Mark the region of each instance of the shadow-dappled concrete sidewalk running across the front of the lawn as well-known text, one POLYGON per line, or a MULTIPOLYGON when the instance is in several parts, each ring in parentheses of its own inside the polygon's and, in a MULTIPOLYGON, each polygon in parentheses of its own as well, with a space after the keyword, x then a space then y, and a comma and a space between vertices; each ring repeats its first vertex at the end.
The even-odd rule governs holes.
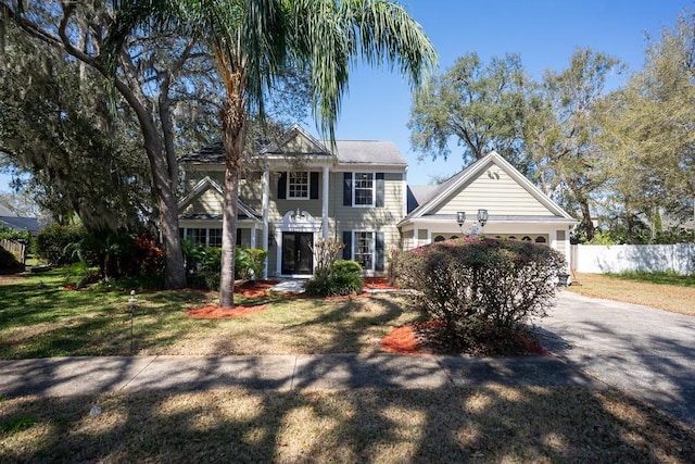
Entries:
POLYGON ((485 384, 602 387, 549 356, 439 355, 51 358, 0 361, 0 394, 250 389, 443 388, 485 384))

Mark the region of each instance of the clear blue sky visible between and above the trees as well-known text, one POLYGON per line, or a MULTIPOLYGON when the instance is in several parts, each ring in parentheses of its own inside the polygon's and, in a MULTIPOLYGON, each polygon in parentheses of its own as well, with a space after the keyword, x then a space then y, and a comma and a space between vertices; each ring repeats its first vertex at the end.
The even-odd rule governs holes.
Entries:
MULTIPOLYGON (((630 72, 644 61, 645 34, 658 37, 672 27, 685 9, 684 0, 402 0, 434 43, 440 70, 456 58, 478 53, 483 62, 513 52, 521 55, 526 71, 540 78, 547 68, 567 66, 577 47, 589 47, 626 62, 630 72)), ((629 73, 628 73, 629 74, 629 73)), ((626 76, 616 76, 619 86, 626 76)), ((459 152, 447 162, 418 162, 410 150, 406 127, 410 90, 405 80, 388 70, 356 66, 350 92, 337 126, 339 139, 391 140, 409 163, 408 181, 429 184, 431 176, 448 176, 462 168, 459 152)), ((306 127, 316 135, 313 123, 306 127)), ((9 177, 0 175, 0 190, 9 177)))

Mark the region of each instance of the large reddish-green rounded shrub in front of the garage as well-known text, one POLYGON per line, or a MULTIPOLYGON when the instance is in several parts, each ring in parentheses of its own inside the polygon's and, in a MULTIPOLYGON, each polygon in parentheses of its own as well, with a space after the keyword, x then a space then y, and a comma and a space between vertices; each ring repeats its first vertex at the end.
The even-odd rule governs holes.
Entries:
POLYGON ((448 348, 503 352, 529 317, 545 315, 564 264, 548 247, 486 238, 432 243, 395 261, 399 285, 419 290, 448 348))

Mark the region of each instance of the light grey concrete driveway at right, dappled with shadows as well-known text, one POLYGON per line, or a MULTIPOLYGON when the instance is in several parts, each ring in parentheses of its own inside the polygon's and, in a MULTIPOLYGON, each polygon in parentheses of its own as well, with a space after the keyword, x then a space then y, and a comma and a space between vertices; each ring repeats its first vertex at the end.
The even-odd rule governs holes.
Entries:
POLYGON ((547 350, 695 426, 695 317, 563 291, 536 325, 547 350))

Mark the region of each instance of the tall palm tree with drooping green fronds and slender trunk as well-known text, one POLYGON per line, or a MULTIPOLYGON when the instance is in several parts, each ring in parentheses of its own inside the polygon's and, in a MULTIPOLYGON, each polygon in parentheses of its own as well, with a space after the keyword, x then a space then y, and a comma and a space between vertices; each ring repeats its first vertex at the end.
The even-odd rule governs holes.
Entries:
POLYGON ((264 96, 285 66, 311 76, 314 116, 334 140, 349 68, 362 60, 397 67, 418 87, 437 63, 420 25, 390 0, 122 0, 109 50, 131 30, 153 27, 200 37, 214 54, 226 88, 222 112, 225 210, 219 305, 233 306, 239 172, 249 115, 264 114, 264 96))

